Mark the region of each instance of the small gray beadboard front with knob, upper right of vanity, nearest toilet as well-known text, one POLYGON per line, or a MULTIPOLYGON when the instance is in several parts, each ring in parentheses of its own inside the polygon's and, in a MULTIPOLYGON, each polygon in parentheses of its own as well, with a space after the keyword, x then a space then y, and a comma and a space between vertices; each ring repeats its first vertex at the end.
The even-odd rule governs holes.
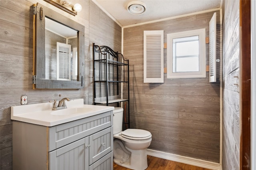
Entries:
POLYGON ((108 127, 89 137, 90 159, 89 164, 93 164, 113 150, 113 127, 108 127))

